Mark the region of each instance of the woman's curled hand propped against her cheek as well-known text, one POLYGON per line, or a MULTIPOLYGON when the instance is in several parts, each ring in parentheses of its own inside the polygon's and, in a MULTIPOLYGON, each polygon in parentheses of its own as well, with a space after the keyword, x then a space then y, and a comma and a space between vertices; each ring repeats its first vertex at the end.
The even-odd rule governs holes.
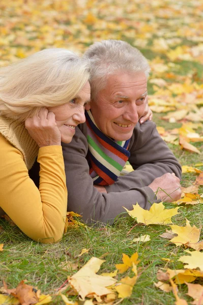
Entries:
POLYGON ((61 145, 61 133, 55 123, 55 115, 42 108, 38 115, 25 120, 25 128, 39 147, 61 145))

